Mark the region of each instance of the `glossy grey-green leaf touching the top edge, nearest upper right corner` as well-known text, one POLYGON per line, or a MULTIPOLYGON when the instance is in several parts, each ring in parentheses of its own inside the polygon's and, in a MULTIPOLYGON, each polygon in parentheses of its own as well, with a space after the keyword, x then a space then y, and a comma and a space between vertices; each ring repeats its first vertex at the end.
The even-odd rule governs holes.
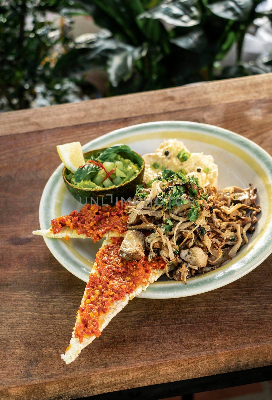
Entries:
POLYGON ((252 9, 252 0, 222 0, 207 4, 208 9, 215 15, 227 20, 244 21, 252 9))

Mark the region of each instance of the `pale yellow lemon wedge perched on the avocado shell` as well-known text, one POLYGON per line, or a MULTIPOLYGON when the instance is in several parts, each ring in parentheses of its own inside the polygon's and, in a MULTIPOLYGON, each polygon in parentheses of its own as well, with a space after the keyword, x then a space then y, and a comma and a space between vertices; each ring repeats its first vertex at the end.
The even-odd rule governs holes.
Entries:
POLYGON ((80 142, 61 144, 57 151, 66 168, 73 173, 85 163, 80 142))

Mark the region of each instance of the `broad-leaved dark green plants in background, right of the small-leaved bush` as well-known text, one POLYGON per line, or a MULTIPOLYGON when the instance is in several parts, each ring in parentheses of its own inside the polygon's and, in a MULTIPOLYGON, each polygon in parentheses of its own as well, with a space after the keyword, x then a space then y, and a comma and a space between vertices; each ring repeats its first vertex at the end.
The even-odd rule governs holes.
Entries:
POLYGON ((103 66, 109 95, 268 72, 271 66, 241 63, 244 35, 262 0, 80 0, 105 28, 75 43, 57 64, 60 74, 103 66), (237 44, 236 64, 218 71, 237 44), (75 60, 77 60, 75 62, 75 60), (218 63, 217 63, 218 64, 218 63), (217 74, 215 74, 217 72, 217 74))

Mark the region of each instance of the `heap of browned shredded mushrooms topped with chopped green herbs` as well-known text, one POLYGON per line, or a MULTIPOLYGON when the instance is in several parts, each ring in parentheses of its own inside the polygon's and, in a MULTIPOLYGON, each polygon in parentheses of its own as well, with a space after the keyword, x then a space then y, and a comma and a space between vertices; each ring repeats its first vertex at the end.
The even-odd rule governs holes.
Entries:
POLYGON ((161 256, 167 276, 186 284, 195 273, 218 268, 248 243, 246 234, 254 231, 261 208, 251 185, 217 192, 210 186, 204 190, 194 177, 166 181, 155 180, 146 198, 127 207, 128 229, 144 230, 148 259, 161 256))

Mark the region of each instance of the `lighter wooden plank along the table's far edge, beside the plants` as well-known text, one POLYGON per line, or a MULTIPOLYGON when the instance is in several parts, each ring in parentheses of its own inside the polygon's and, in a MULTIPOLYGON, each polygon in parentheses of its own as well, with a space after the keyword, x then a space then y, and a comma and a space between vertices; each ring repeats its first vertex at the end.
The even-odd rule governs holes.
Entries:
POLYGON ((265 85, 264 90, 264 85, 260 85, 261 82, 271 82, 272 87, 272 73, 86 100, 79 103, 4 112, 0 114, 0 136, 80 126, 126 117, 156 115, 165 112, 168 103, 171 104, 171 110, 218 104, 218 100, 210 96, 211 91, 217 93, 216 97, 219 93, 220 104, 234 101, 234 88, 238 93, 239 101, 271 97, 270 85, 265 85), (186 92, 190 92, 189 97, 186 96, 186 92), (154 93, 156 93, 155 102, 154 93), (185 97, 186 102, 184 101, 185 97), (118 107, 116 108, 117 98, 118 107), (128 109, 129 115, 127 114, 128 109))

